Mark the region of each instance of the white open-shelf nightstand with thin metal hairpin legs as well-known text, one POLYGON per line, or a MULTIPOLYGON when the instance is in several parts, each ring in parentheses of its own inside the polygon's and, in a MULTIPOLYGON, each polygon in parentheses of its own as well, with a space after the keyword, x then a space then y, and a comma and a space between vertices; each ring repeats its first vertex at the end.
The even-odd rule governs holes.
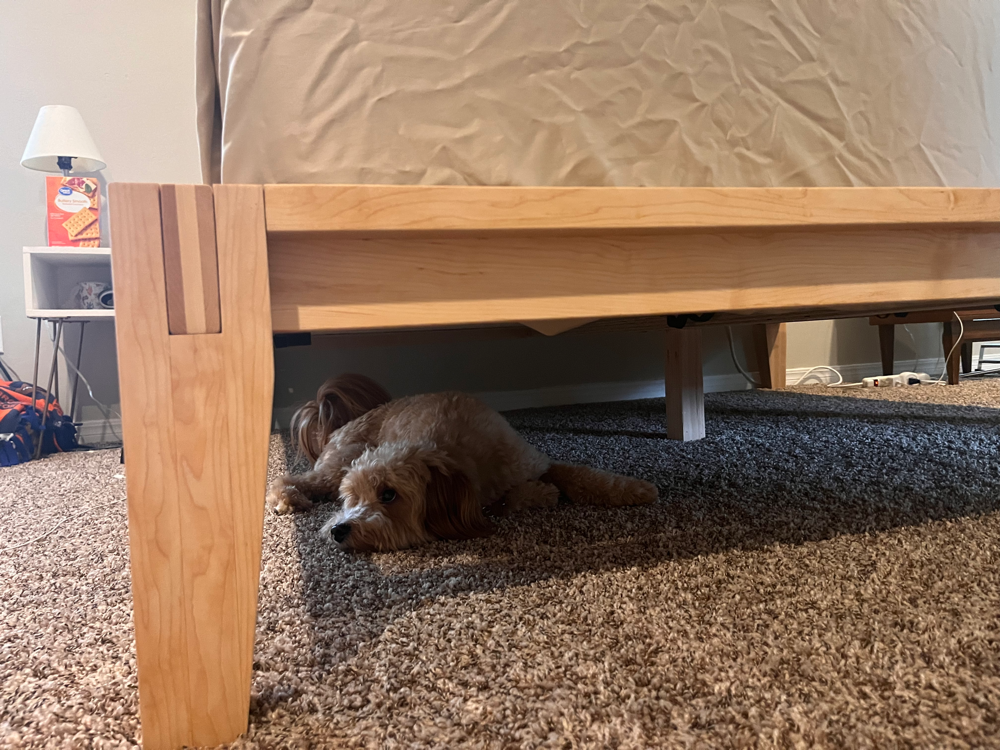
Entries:
MULTIPOLYGON (((108 247, 26 247, 24 260, 25 314, 36 320, 35 368, 32 384, 38 384, 38 354, 42 338, 42 321, 54 326, 54 347, 46 391, 52 393, 52 382, 58 389, 58 353, 63 326, 67 322, 80 324, 80 345, 76 354, 73 378, 73 397, 70 419, 76 417, 76 391, 80 381, 80 357, 83 354, 83 330, 90 321, 114 320, 114 310, 81 310, 69 307, 74 285, 81 281, 99 281, 111 286, 111 248, 108 247)), ((67 357, 67 362, 69 358, 67 357)), ((34 401, 34 398, 32 399, 34 401)), ((48 410, 42 413, 42 419, 48 410)), ((41 447, 41 441, 39 441, 41 447)))

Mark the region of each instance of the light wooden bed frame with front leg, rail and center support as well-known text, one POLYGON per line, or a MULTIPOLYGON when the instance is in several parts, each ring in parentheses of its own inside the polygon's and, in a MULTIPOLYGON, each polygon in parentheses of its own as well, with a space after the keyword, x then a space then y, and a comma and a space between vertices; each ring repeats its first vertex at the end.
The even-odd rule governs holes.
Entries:
MULTIPOLYGON (((771 323, 1000 298, 1000 190, 113 184, 139 703, 149 748, 247 726, 272 333, 712 313, 771 323)), ((683 318, 680 320, 683 321, 683 318)), ((668 328, 673 437, 700 329, 668 328)))

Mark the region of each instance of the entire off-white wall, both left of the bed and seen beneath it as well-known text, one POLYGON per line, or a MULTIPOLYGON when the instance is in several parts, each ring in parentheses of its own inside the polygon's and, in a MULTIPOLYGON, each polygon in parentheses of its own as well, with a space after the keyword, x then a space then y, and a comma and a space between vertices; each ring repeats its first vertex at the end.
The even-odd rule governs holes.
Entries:
MULTIPOLYGON (((5 359, 28 378, 34 325, 24 317, 21 247, 45 242, 44 177, 19 161, 35 115, 45 104, 77 107, 108 163, 109 182, 200 182, 194 2, 2 0, 0 8, 0 324, 5 359)), ((920 356, 939 356, 936 327, 914 330, 920 356)), ((899 338, 900 357, 911 356, 899 338)), ((277 352, 275 403, 284 408, 304 399, 328 374, 345 370, 367 372, 397 394, 648 382, 662 377, 660 339, 634 333, 343 349, 327 342, 277 352)), ((706 373, 734 374, 723 332, 710 331, 706 344, 706 373)), ((43 349, 43 362, 50 351, 43 349)), ((865 321, 790 329, 789 367, 877 361, 878 337, 865 321)), ((115 404, 111 324, 90 324, 82 369, 97 397, 115 404)), ((92 406, 84 416, 99 419, 92 406)))

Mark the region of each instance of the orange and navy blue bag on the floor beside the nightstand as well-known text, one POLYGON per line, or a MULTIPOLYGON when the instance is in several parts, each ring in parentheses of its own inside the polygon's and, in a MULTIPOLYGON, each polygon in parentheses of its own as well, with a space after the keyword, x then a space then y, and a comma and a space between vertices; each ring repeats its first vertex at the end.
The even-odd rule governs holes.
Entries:
POLYGON ((35 389, 31 403, 31 383, 0 380, 0 466, 30 461, 36 441, 42 453, 71 451, 77 447, 76 426, 63 414, 55 398, 46 398, 44 389, 35 389), (47 410, 45 427, 42 412, 47 410))

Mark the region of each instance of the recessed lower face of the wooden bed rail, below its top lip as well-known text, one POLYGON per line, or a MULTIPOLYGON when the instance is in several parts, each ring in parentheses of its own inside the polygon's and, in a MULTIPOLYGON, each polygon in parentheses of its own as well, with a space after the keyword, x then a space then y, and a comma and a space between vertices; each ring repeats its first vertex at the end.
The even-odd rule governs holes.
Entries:
POLYGON ((277 331, 786 311, 1000 294, 1000 232, 272 236, 277 331), (872 263, 872 257, 879 258, 872 263))

